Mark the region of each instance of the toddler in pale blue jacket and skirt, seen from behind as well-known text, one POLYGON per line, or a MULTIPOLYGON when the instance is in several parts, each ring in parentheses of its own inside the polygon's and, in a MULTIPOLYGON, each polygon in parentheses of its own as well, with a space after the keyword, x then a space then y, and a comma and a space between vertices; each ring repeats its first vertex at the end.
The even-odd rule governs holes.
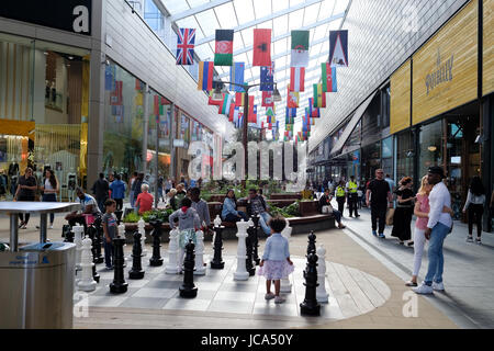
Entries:
POLYGON ((259 263, 258 274, 266 278, 266 299, 274 298, 276 304, 284 303, 280 296, 280 280, 293 272, 293 262, 290 260, 288 239, 281 236, 287 226, 282 216, 271 218, 269 227, 271 236, 266 240, 262 260, 259 263), (271 281, 274 281, 274 294, 271 293, 271 281))

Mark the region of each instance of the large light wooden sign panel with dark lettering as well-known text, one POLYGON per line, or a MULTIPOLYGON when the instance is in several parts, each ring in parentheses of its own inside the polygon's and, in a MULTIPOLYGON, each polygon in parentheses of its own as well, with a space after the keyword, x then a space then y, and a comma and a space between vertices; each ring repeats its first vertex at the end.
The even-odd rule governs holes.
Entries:
POLYGON ((478 33, 479 0, 471 0, 414 54, 414 125, 478 99, 478 33))

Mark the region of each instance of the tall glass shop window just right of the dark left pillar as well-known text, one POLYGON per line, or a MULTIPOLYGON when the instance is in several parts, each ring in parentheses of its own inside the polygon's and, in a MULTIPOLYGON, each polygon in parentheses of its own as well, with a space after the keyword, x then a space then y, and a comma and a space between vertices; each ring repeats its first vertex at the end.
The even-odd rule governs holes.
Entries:
POLYGON ((144 83, 110 63, 104 90, 103 171, 125 180, 143 167, 144 83))

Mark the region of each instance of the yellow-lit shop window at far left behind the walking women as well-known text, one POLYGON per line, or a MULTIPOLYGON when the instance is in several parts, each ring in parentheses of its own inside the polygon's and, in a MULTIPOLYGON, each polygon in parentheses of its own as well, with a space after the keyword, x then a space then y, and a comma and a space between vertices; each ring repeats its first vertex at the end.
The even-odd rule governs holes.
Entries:
POLYGON ((61 200, 69 178, 83 180, 89 58, 77 47, 0 34, 0 170, 9 189, 26 167, 38 181, 55 170, 61 200))

